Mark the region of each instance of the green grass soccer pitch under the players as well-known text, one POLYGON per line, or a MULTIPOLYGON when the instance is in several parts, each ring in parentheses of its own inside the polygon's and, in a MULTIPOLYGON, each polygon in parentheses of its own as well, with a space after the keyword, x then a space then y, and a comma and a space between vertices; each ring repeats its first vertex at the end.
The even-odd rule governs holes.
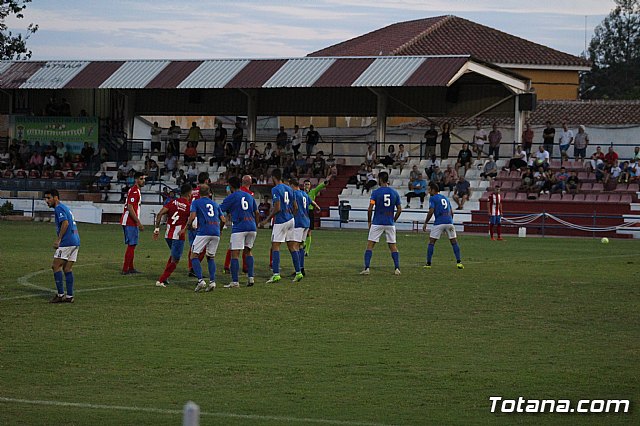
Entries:
MULTIPOLYGON (((366 233, 316 231, 307 276, 194 293, 186 262, 141 234, 119 274, 115 225, 79 224, 74 304, 46 303, 51 223, 0 222, 0 424, 638 424, 640 242, 462 236, 424 270, 424 234, 384 244, 362 277, 366 233), (505 399, 629 399, 622 414, 497 414, 505 399)), ((228 238, 228 233, 223 237, 228 238)), ((283 254, 283 278, 292 272, 283 254)), ((206 267, 205 267, 206 269, 206 267)), ((241 282, 246 280, 242 280, 241 282)), ((244 283, 243 283, 244 284, 244 283)))

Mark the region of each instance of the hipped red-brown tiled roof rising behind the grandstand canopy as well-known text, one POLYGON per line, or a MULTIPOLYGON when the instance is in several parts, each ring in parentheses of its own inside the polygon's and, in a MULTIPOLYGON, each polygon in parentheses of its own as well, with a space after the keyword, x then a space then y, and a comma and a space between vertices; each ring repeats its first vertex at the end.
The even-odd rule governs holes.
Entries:
POLYGON ((589 66, 578 56, 457 16, 399 22, 309 56, 471 55, 497 64, 589 66))

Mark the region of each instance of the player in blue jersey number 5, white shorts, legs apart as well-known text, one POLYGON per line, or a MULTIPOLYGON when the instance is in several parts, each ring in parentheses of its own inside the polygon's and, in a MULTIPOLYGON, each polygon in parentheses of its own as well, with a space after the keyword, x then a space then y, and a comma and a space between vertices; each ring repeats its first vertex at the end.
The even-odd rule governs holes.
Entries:
POLYGON ((385 240, 391 251, 391 258, 395 266, 395 274, 400 275, 400 254, 396 245, 395 223, 402 213, 402 202, 398 192, 389 187, 389 173, 380 172, 378 175, 380 188, 371 193, 367 219, 369 222, 369 237, 367 250, 364 252, 364 269, 360 275, 369 275, 369 264, 373 256, 373 247, 384 233, 385 240), (373 216, 373 220, 371 217, 373 216))

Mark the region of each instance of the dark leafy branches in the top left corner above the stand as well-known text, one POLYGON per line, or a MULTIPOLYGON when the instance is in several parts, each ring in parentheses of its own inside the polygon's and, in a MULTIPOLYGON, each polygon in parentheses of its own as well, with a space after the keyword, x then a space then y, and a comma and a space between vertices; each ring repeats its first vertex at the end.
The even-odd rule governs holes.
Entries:
POLYGON ((27 49, 27 40, 38 30, 37 24, 29 24, 24 34, 13 34, 6 19, 13 16, 23 19, 22 13, 31 0, 0 0, 0 59, 29 59, 31 50, 27 49))

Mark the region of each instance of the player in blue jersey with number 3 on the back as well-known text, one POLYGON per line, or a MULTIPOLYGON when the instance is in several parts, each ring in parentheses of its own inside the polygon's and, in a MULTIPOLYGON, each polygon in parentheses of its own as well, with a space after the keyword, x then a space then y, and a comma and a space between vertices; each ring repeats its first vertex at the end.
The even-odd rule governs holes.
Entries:
MULTIPOLYGON (((200 198, 191 203, 187 228, 191 228, 194 221, 198 221, 196 237, 191 246, 191 265, 193 272, 198 278, 195 291, 211 291, 216 288, 216 263, 214 257, 220 243, 221 223, 224 224, 224 216, 220 211, 220 206, 211 200, 211 190, 206 184, 199 186, 200 198), (202 279, 202 265, 200 264, 200 254, 206 253, 207 266, 209 269, 209 285, 202 279)), ((184 230, 182 231, 184 234, 184 230)))

